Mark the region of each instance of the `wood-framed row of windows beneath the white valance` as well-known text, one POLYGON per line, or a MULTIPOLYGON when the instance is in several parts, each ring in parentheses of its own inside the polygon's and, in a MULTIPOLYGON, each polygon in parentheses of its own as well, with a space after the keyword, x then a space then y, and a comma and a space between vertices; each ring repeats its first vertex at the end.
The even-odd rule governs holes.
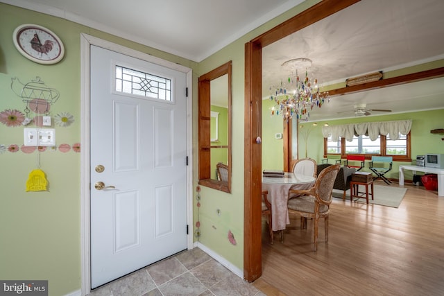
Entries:
POLYGON ((351 142, 340 138, 339 141, 332 141, 332 137, 324 138, 324 157, 328 155, 341 155, 345 158, 348 154, 393 156, 396 162, 411 162, 410 154, 410 133, 400 134, 400 139, 392 140, 388 137, 379 135, 375 141, 371 141, 368 136, 362 135, 353 137, 351 142))

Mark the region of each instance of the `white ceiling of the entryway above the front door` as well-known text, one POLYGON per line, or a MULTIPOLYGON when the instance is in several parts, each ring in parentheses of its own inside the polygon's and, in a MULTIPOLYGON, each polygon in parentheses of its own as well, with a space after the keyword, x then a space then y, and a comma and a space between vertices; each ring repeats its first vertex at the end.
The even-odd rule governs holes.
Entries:
POLYGON ((200 62, 303 0, 0 0, 200 62))

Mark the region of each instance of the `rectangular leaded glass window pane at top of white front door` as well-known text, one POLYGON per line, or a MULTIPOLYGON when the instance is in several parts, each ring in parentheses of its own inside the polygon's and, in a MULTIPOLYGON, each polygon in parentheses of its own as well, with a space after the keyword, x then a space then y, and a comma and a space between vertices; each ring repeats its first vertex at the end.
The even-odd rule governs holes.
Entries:
POLYGON ((116 65, 116 92, 171 101, 171 80, 116 65))

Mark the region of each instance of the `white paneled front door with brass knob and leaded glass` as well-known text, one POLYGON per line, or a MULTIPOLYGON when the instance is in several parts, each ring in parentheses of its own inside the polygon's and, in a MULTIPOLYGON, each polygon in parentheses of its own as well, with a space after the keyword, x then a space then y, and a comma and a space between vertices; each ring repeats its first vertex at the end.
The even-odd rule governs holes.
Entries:
POLYGON ((187 249, 187 102, 185 73, 97 46, 90 63, 96 288, 187 249))

